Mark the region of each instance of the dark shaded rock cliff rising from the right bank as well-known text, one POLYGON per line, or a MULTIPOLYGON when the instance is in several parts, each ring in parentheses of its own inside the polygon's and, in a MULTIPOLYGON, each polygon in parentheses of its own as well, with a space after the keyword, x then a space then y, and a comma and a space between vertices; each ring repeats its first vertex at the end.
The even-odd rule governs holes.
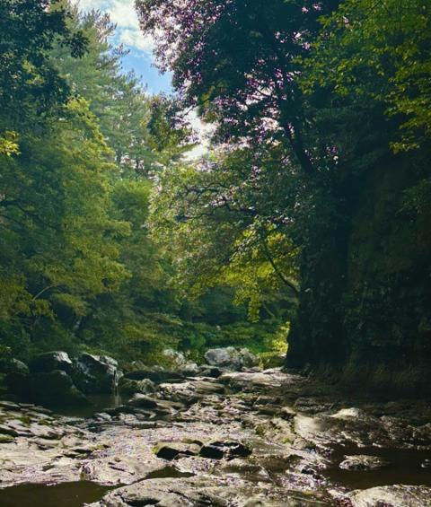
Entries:
POLYGON ((287 366, 377 395, 429 393, 431 214, 406 205, 427 171, 425 159, 388 155, 352 179, 345 225, 305 251, 287 366))

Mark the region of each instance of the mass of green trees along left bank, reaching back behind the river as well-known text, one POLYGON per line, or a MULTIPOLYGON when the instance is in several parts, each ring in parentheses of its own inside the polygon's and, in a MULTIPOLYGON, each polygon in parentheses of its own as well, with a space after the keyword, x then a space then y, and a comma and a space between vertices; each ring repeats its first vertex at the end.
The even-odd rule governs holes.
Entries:
POLYGON ((0 13, 2 356, 157 362, 168 346, 200 359, 217 345, 279 354, 289 294, 267 289, 260 304, 238 275, 209 284, 172 257, 192 255, 199 236, 158 209, 168 170, 172 186, 193 170, 175 101, 121 73, 107 15, 45 4, 6 1, 0 13))

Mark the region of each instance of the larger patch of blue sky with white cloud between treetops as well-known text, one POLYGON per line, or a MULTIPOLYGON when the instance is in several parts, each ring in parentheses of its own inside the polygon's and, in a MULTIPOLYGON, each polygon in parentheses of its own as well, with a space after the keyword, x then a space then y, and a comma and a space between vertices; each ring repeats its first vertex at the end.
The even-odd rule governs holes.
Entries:
POLYGON ((134 70, 147 85, 149 93, 171 92, 171 75, 160 74, 154 67, 153 40, 139 30, 134 0, 79 0, 75 2, 82 11, 97 9, 110 14, 117 25, 115 42, 128 48, 123 59, 125 72, 134 70))

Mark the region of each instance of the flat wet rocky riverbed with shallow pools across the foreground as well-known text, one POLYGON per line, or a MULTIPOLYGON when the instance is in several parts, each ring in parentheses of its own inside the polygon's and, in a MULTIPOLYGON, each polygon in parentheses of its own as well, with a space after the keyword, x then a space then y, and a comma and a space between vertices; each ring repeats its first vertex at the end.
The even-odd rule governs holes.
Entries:
POLYGON ((205 373, 161 376, 89 418, 0 403, 0 505, 431 505, 425 401, 347 396, 279 369, 205 373))

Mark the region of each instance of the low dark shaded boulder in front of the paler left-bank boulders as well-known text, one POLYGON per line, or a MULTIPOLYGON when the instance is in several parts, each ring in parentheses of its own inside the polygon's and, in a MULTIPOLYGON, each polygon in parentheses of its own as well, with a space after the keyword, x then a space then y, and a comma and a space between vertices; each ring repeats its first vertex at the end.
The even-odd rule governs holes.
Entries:
POLYGON ((63 370, 31 374, 31 399, 44 406, 87 406, 90 402, 75 388, 63 370))

